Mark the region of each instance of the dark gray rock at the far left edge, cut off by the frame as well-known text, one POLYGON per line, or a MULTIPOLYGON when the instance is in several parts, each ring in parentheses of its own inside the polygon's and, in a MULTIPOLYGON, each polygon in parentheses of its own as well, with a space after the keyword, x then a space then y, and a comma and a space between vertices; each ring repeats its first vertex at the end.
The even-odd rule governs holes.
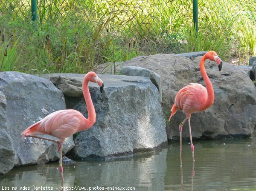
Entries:
POLYGON ((14 148, 6 129, 6 98, 0 91, 0 175, 9 172, 15 162, 14 148))

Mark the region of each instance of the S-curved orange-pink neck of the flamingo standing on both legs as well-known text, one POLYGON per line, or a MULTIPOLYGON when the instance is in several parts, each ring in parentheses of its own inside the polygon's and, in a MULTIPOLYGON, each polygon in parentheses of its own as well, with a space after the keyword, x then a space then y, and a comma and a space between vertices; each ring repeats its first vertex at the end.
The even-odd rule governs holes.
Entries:
POLYGON ((200 61, 200 71, 203 76, 206 89, 207 89, 207 100, 203 103, 202 110, 209 108, 214 102, 214 90, 212 87, 212 83, 205 71, 205 67, 204 67, 205 60, 207 60, 207 57, 203 56, 200 61))

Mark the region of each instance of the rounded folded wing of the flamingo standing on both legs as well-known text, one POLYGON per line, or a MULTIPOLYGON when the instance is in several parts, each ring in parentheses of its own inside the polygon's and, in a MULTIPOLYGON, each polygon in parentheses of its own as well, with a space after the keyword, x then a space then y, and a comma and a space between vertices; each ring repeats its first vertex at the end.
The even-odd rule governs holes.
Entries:
POLYGON ((198 83, 190 83, 180 89, 175 97, 175 105, 186 114, 202 111, 207 100, 207 89, 198 83))

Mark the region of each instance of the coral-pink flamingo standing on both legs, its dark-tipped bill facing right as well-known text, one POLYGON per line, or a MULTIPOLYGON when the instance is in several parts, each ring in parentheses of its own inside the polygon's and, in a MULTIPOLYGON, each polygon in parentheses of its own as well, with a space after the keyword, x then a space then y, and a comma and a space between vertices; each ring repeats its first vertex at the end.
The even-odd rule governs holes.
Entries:
POLYGON ((191 114, 206 110, 214 102, 214 91, 213 91, 212 83, 211 83, 209 77, 207 76, 207 73, 204 68, 204 62, 207 59, 215 61, 218 65, 219 71, 221 71, 222 61, 218 57, 216 52, 209 51, 206 54, 204 54, 204 56, 201 58, 201 61, 200 61, 200 71, 203 76, 204 82, 206 84, 206 88, 198 83, 190 83, 188 86, 185 86, 184 88, 180 89, 178 91, 177 95, 175 96, 174 104, 171 109, 172 114, 169 118, 169 121, 170 121, 171 117, 176 113, 177 109, 182 110, 186 114, 186 118, 179 125, 180 157, 181 157, 182 126, 184 125, 186 120, 188 120, 189 121, 189 136, 190 136, 190 142, 191 142, 193 161, 195 161, 195 157, 194 157, 194 145, 192 143, 192 135, 191 135, 191 127, 190 127, 191 114))

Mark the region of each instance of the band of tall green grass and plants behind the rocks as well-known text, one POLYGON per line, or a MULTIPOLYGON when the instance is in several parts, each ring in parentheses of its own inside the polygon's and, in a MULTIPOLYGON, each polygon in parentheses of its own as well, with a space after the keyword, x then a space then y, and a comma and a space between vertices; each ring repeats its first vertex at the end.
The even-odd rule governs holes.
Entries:
POLYGON ((256 54, 256 3, 192 1, 0 0, 0 71, 86 73, 145 54, 215 50, 221 58, 256 54))

